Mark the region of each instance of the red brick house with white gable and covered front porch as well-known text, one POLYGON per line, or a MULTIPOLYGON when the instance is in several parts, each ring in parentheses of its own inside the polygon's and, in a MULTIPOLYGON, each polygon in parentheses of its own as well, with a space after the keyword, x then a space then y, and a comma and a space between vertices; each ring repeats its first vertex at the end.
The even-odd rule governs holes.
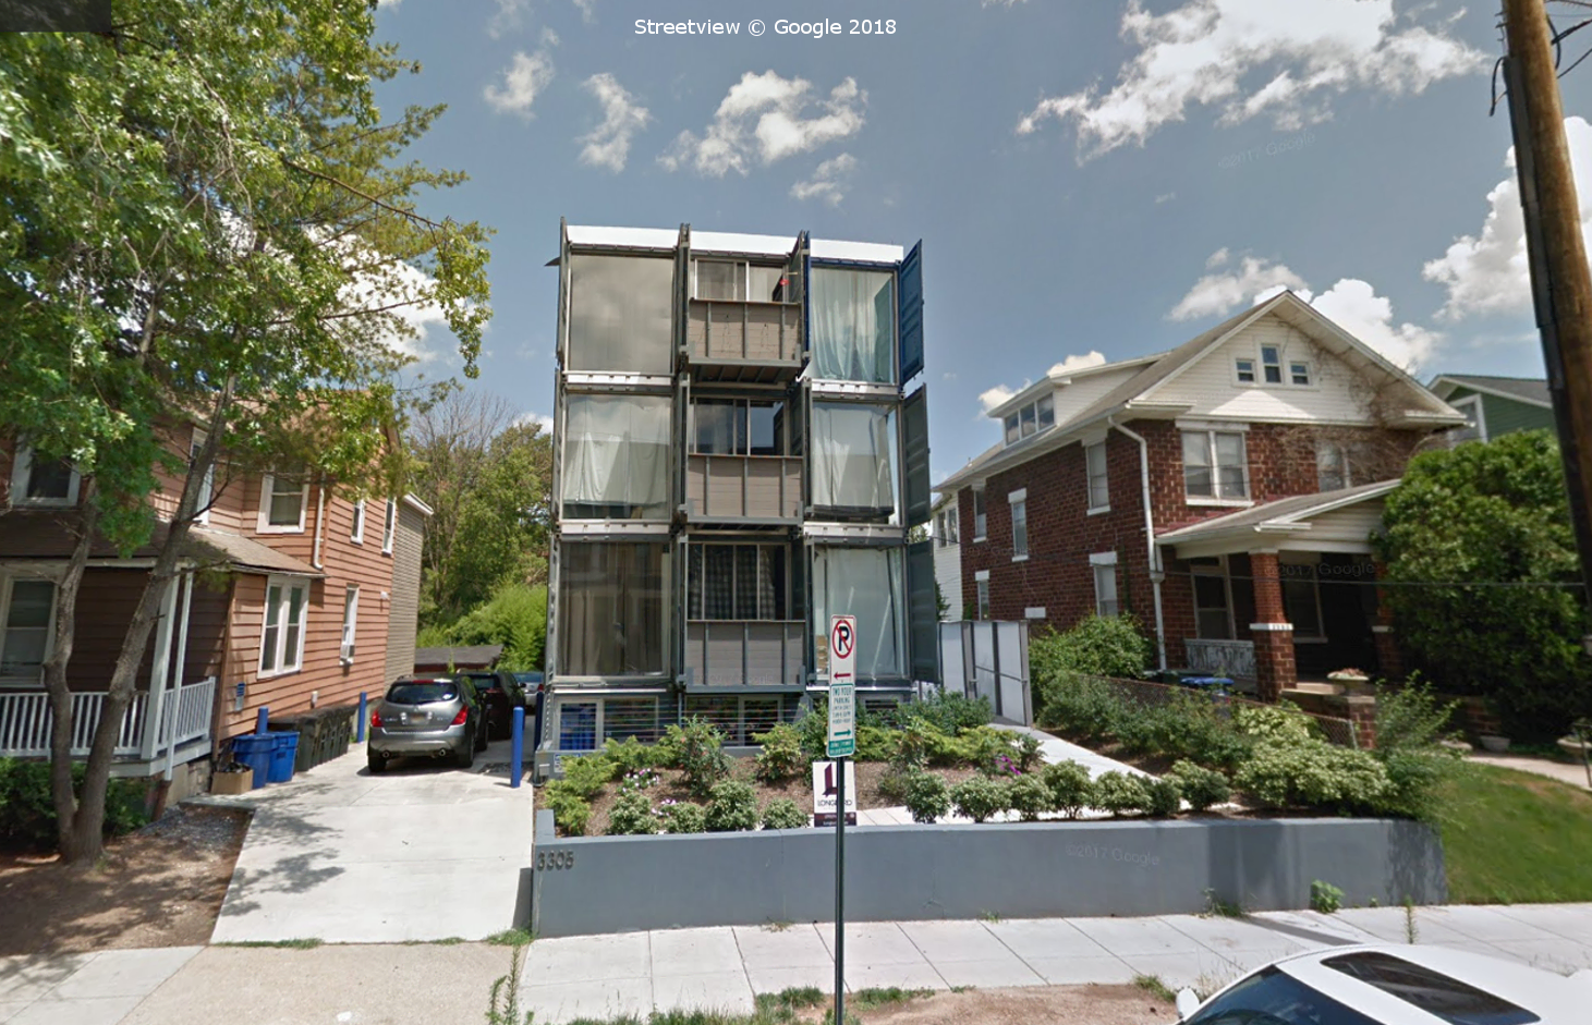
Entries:
POLYGON ((990 417, 1001 444, 936 489, 979 618, 1132 613, 1161 668, 1270 699, 1398 672, 1371 533, 1409 457, 1465 417, 1293 293, 1161 355, 1052 371, 990 417))

